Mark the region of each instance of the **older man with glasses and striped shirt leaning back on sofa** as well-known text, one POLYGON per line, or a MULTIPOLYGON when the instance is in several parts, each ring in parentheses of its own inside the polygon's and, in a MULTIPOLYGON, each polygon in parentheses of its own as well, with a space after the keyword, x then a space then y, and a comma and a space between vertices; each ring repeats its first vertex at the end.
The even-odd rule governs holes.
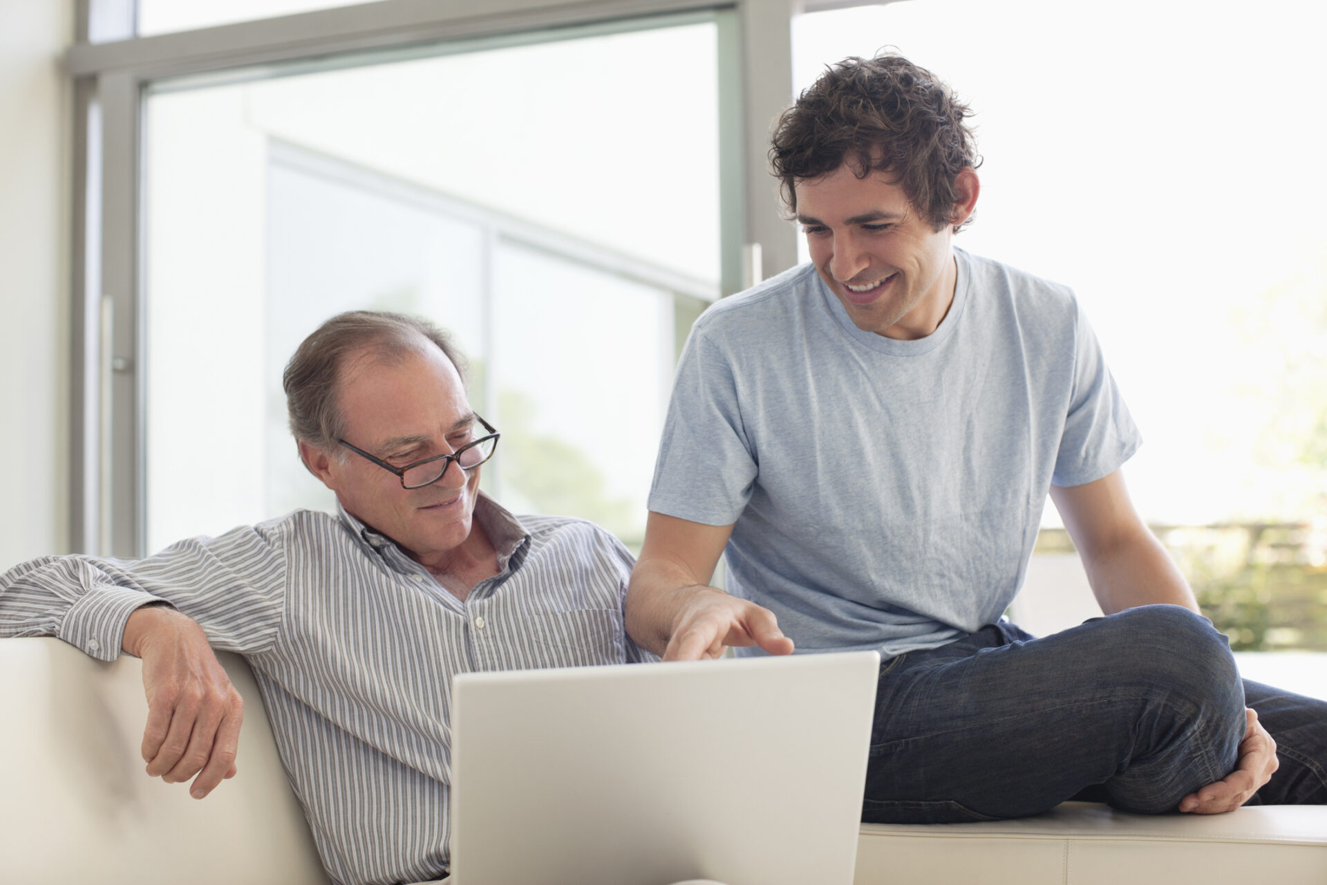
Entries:
POLYGON ((147 774, 235 774, 240 698, 211 647, 252 665, 328 873, 437 878, 449 865, 451 678, 638 661, 632 557, 580 520, 512 516, 479 491, 498 431, 462 361, 419 320, 356 312, 285 370, 304 464, 338 513, 297 511, 155 556, 40 559, 0 576, 0 636, 143 658, 147 774))

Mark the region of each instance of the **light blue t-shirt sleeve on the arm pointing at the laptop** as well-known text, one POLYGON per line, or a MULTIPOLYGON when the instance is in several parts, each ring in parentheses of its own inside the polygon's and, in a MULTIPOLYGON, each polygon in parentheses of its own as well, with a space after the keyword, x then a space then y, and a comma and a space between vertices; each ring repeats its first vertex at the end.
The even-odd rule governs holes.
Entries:
POLYGON ((731 525, 751 498, 756 455, 742 422, 733 366, 702 324, 693 328, 678 362, 649 508, 693 523, 731 525))

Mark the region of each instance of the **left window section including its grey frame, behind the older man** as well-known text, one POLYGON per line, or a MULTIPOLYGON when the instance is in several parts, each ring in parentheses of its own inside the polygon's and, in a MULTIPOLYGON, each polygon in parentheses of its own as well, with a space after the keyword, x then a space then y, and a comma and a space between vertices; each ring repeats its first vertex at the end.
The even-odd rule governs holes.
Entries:
POLYGON ((280 374, 354 308, 455 334, 499 499, 640 543, 691 321, 795 260, 788 9, 77 1, 76 549, 329 508, 280 374))

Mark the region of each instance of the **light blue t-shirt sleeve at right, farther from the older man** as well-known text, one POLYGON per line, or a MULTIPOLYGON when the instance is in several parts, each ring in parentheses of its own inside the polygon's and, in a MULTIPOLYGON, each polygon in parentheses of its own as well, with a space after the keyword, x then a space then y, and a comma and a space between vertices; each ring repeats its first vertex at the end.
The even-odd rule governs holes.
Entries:
POLYGON ((1075 318, 1074 389, 1051 476, 1056 486, 1082 486, 1108 476, 1143 444, 1082 305, 1076 305, 1075 318))

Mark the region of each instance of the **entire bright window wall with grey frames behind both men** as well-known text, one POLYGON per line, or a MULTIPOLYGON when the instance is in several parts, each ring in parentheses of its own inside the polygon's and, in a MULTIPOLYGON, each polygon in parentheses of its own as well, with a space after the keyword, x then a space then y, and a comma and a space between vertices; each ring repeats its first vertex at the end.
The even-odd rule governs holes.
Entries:
POLYGON ((349 306, 456 333, 498 495, 638 539, 681 337, 798 256, 771 121, 893 45, 978 111, 959 245, 1085 304, 1147 438, 1133 496, 1208 610, 1327 647, 1323 13, 844 5, 80 0, 73 545, 325 507, 273 385, 349 306))

